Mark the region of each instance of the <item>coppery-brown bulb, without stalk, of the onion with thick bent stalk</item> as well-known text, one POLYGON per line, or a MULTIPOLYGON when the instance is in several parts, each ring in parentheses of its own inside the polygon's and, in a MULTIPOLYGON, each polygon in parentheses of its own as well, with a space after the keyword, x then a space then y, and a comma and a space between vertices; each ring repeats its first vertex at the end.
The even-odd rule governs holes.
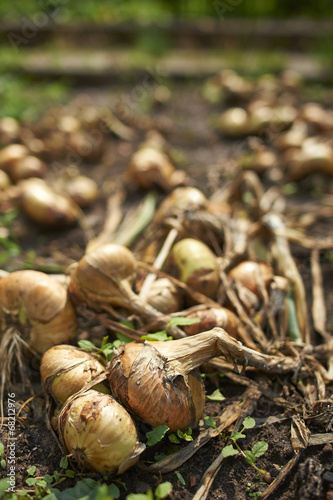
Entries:
POLYGON ((202 417, 205 390, 198 371, 181 373, 158 351, 164 342, 130 342, 120 347, 108 368, 112 393, 153 427, 170 431, 195 427, 202 417), (155 347, 156 345, 156 347, 155 347))

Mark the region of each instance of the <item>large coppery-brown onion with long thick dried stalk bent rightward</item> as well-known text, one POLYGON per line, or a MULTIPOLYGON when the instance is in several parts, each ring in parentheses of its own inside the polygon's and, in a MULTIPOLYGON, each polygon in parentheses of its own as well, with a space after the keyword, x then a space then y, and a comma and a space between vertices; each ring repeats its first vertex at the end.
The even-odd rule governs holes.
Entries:
POLYGON ((217 356, 271 373, 293 371, 299 363, 244 347, 216 327, 169 342, 122 344, 107 376, 112 393, 126 408, 152 426, 175 431, 194 427, 202 417, 205 394, 197 369, 217 356))

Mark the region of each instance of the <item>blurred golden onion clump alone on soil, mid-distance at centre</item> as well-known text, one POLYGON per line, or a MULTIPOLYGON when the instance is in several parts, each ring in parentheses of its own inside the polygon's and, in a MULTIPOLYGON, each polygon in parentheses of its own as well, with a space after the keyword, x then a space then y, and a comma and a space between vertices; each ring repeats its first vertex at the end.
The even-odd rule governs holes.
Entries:
POLYGON ((133 154, 126 176, 144 189, 159 187, 171 191, 188 180, 183 170, 176 169, 164 152, 164 140, 158 134, 148 137, 133 154))

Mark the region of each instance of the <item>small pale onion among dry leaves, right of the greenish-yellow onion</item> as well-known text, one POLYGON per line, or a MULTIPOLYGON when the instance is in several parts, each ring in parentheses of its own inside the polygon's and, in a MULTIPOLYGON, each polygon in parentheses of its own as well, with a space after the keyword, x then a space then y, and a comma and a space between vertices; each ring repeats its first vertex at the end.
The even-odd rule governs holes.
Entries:
POLYGON ((255 295, 261 295, 260 281, 268 286, 273 279, 273 269, 264 262, 246 260, 233 267, 228 275, 255 295))

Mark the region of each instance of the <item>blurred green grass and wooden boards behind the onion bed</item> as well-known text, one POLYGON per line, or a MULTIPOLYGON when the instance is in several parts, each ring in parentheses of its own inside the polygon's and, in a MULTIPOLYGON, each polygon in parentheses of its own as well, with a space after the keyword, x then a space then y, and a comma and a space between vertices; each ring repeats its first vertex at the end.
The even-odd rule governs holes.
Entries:
POLYGON ((177 84, 292 68, 320 92, 332 15, 330 0, 2 0, 0 116, 34 119, 73 88, 133 86, 157 64, 177 84))

